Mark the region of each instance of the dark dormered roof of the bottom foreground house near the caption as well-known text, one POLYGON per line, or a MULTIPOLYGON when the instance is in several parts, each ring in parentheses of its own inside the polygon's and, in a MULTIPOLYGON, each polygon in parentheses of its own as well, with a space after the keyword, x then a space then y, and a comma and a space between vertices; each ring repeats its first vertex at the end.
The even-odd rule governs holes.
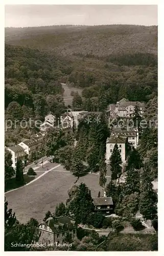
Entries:
POLYGON ((61 217, 58 217, 55 219, 50 217, 45 222, 43 222, 41 224, 49 226, 53 232, 59 232, 59 231, 64 231, 64 230, 68 230, 68 229, 72 230, 72 229, 76 228, 75 221, 68 216, 61 216, 61 217))

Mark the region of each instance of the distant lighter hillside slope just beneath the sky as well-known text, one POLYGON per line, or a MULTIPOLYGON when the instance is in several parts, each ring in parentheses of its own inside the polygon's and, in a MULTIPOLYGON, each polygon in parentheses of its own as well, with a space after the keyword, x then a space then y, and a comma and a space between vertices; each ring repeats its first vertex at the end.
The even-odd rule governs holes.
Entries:
POLYGON ((157 54, 157 26, 50 26, 6 28, 8 44, 57 52, 62 55, 106 56, 122 52, 157 54))

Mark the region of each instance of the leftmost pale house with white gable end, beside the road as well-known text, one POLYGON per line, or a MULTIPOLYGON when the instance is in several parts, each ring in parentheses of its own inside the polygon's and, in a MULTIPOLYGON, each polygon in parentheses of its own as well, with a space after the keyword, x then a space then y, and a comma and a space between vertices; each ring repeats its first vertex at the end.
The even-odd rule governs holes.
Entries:
POLYGON ((12 155, 12 167, 15 169, 16 168, 16 163, 18 160, 21 160, 22 163, 24 163, 27 159, 27 153, 24 149, 24 147, 20 145, 15 145, 15 146, 9 146, 6 148, 8 151, 10 151, 12 155))

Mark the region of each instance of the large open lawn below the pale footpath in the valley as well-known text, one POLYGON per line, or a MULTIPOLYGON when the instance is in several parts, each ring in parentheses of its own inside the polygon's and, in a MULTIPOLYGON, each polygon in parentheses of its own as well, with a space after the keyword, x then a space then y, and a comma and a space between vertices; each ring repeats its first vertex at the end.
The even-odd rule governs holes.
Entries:
MULTIPOLYGON (((25 223, 33 217, 40 223, 46 211, 53 212, 57 204, 66 201, 67 191, 76 181, 76 177, 69 172, 62 172, 62 170, 63 168, 60 166, 32 184, 5 195, 9 207, 13 209, 20 222, 25 223)), ((78 183, 81 182, 90 188, 92 197, 98 196, 99 190, 103 195, 102 188, 99 186, 99 175, 88 174, 79 179, 78 183)), ((109 178, 107 182, 109 182, 109 178)))

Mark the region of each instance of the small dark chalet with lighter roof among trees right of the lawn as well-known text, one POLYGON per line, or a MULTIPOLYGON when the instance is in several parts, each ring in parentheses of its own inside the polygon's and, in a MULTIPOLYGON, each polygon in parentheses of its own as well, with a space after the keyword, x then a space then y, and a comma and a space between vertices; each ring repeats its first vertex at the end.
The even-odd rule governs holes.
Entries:
POLYGON ((96 197, 92 198, 95 211, 101 211, 105 215, 112 214, 113 201, 111 197, 96 197))

